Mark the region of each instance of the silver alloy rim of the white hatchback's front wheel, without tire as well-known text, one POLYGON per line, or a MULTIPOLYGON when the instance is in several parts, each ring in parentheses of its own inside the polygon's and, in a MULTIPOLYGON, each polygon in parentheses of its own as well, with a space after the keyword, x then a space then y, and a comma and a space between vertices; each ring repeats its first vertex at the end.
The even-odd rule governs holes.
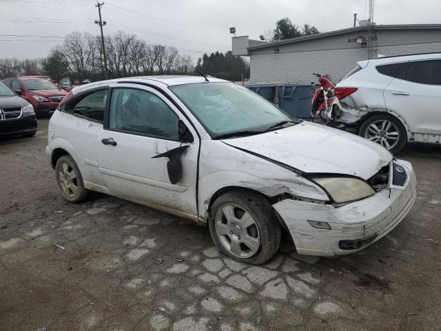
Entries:
POLYGON ((258 252, 258 225, 252 214, 240 205, 227 203, 219 208, 215 228, 220 243, 235 257, 248 258, 258 252))

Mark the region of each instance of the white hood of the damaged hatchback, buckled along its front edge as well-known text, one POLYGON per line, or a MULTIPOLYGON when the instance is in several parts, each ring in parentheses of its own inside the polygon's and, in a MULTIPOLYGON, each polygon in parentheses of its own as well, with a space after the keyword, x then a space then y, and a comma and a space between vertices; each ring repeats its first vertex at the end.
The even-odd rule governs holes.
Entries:
POLYGON ((393 159, 377 143, 309 122, 223 142, 302 172, 351 174, 362 179, 369 179, 393 159))

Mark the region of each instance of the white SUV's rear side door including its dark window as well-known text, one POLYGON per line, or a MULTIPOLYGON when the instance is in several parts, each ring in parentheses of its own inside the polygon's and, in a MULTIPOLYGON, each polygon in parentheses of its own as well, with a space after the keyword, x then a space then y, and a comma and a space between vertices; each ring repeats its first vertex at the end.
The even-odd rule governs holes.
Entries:
POLYGON ((411 132, 441 134, 441 59, 412 61, 384 90, 386 107, 411 132))

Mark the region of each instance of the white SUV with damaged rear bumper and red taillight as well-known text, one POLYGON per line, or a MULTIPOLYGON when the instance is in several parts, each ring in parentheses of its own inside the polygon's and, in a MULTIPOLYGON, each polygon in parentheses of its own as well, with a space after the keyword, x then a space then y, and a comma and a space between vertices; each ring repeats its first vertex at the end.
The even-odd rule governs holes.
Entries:
POLYGON ((441 143, 441 53, 360 61, 335 94, 334 121, 391 152, 441 143))

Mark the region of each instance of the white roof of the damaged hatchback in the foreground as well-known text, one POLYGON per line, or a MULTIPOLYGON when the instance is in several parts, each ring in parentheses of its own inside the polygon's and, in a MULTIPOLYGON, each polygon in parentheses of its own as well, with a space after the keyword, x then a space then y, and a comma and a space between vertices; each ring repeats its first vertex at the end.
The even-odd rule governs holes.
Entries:
MULTIPOLYGON (((207 76, 209 83, 219 83, 219 82, 228 82, 224 79, 218 79, 214 77, 207 76)), ((176 85, 184 85, 184 84, 193 84, 193 83, 207 83, 204 77, 201 76, 174 76, 174 75, 160 75, 160 76, 139 76, 139 77, 126 77, 126 78, 117 78, 117 79, 109 79, 107 81, 96 81, 94 83, 85 84, 83 86, 77 86, 72 89, 73 94, 77 94, 79 92, 89 90, 90 88, 99 88, 100 86, 109 86, 114 83, 153 83, 157 85, 157 83, 162 83, 165 86, 176 86, 176 85)))

